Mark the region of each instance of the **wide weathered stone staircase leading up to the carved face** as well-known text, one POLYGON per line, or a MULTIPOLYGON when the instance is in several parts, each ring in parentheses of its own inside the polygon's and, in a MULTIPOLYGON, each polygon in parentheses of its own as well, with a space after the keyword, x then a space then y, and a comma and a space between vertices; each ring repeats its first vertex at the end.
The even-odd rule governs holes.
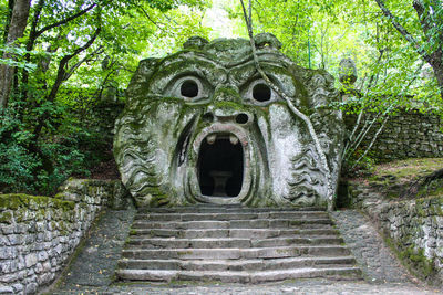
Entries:
POLYGON ((140 210, 116 270, 122 281, 261 283, 360 278, 317 208, 197 206, 140 210))

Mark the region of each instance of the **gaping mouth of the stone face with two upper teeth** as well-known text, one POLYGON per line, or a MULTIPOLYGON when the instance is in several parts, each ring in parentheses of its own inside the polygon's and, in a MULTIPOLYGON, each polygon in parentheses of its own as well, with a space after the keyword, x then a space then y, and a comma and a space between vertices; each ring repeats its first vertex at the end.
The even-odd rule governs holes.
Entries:
POLYGON ((251 149, 247 133, 230 124, 202 130, 192 146, 187 187, 198 202, 240 203, 251 191, 251 149))

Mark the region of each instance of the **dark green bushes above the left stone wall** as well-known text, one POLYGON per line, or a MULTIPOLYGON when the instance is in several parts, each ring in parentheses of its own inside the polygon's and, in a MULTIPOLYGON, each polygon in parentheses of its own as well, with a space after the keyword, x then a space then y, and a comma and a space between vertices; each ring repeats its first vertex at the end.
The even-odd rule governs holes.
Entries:
POLYGON ((40 152, 32 152, 34 137, 29 128, 34 112, 22 115, 17 109, 23 106, 12 106, 1 118, 0 191, 53 193, 69 176, 87 176, 89 169, 103 159, 97 152, 105 149, 100 141, 103 135, 87 133, 87 126, 72 119, 72 110, 61 112, 51 104, 33 109, 49 112, 54 119, 47 122, 37 143, 40 152))

